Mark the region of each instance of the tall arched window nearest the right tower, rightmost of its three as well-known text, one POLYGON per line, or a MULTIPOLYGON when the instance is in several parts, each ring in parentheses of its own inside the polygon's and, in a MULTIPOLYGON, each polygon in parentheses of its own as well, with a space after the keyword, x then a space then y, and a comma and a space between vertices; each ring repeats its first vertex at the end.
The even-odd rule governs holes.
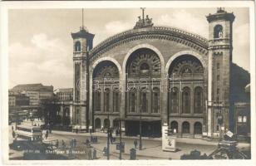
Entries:
POLYGON ((203 89, 201 87, 194 89, 194 113, 203 113, 203 89))

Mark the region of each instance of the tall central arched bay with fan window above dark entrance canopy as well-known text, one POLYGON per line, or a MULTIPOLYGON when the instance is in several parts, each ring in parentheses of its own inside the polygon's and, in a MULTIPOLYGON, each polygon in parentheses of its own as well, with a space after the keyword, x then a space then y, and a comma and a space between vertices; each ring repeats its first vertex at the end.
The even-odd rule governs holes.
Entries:
POLYGON ((159 80, 162 66, 160 55, 157 51, 143 47, 133 51, 126 61, 126 135, 135 136, 140 134, 148 137, 159 137, 161 134, 160 121, 160 81, 154 85, 134 84, 141 79, 151 82, 159 80), (159 120, 152 120, 147 116, 155 115, 159 120), (129 120, 128 120, 129 119, 129 120))

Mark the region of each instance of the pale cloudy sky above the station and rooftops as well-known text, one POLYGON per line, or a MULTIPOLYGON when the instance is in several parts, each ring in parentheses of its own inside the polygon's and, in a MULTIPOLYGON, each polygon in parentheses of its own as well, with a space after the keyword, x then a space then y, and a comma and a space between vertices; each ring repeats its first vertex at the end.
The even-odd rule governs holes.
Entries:
MULTIPOLYGON (((234 12, 233 62, 249 71, 249 8, 234 12)), ((209 13, 216 8, 147 8, 155 26, 178 27, 209 38, 209 13)), ((42 83, 54 89, 72 87, 71 32, 81 27, 81 9, 12 9, 8 12, 9 87, 42 83)), ((139 8, 86 9, 84 22, 95 34, 94 46, 116 33, 132 29, 139 8)))

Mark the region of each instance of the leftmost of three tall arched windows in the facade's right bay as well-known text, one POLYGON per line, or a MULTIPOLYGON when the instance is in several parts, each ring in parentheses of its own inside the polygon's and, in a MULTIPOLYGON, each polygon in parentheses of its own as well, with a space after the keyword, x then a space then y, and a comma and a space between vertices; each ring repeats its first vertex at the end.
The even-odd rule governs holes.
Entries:
POLYGON ((170 113, 179 113, 179 90, 174 87, 169 92, 170 113))

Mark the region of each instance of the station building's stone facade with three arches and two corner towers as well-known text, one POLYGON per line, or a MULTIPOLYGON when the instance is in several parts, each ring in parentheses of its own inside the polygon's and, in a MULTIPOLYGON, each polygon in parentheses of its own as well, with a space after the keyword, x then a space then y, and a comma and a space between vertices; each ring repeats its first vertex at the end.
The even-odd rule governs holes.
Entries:
POLYGON ((160 126, 167 124, 181 135, 209 137, 229 129, 234 14, 219 8, 207 20, 209 39, 153 27, 152 19, 96 47, 94 35, 83 27, 72 33, 72 124, 118 128, 121 120, 126 134, 137 134, 142 120, 145 133, 160 134, 160 126))

